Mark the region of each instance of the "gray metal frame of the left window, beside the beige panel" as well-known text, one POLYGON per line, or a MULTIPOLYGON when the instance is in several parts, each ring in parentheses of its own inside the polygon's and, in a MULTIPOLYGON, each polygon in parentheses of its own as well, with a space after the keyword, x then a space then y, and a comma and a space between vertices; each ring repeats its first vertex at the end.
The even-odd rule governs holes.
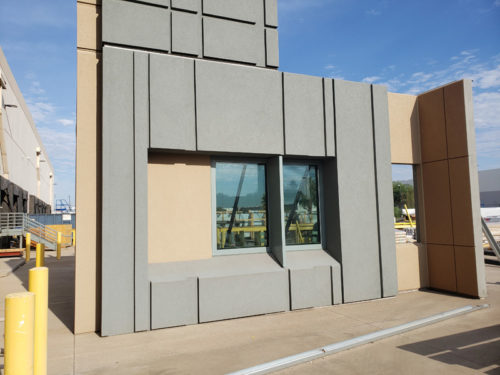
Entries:
POLYGON ((237 254, 260 254, 269 253, 269 192, 268 192, 268 165, 267 159, 251 157, 211 157, 210 160, 211 179, 211 209, 212 209, 212 256, 237 255, 237 254), (239 247, 234 249, 217 248, 217 163, 233 164, 264 164, 265 167, 265 189, 266 189, 266 236, 267 246, 262 247, 239 247))

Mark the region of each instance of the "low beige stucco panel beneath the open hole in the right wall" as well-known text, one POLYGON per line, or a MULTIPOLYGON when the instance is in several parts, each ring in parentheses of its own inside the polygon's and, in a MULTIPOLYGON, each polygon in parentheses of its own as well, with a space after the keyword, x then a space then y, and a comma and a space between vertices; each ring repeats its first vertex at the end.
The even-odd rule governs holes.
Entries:
POLYGON ((427 251, 425 245, 407 243, 396 245, 398 289, 415 290, 429 286, 427 251))

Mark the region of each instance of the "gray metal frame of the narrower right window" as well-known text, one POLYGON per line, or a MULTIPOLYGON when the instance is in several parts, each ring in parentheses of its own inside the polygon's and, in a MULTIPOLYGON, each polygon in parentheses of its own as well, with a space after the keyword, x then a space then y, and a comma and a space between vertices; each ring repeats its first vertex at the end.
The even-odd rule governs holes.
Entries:
MULTIPOLYGON (((285 165, 298 165, 298 166, 316 166, 316 185, 318 187, 318 219, 319 219, 319 238, 320 242, 318 244, 304 244, 304 245, 287 245, 286 244, 286 233, 283 233, 285 243, 283 244, 284 251, 303 251, 303 250, 325 250, 326 249, 326 234, 324 232, 325 228, 325 217, 324 217, 324 196, 323 196, 323 163, 320 160, 307 160, 307 159, 283 159, 283 176, 285 173, 285 165)), ((284 187, 283 187, 284 188, 284 187)), ((284 195, 284 191, 282 192, 284 195)), ((285 212, 285 197, 283 196, 283 216, 285 212)), ((284 223, 283 223, 284 224, 284 223)), ((283 226, 283 232, 285 227, 283 226)))

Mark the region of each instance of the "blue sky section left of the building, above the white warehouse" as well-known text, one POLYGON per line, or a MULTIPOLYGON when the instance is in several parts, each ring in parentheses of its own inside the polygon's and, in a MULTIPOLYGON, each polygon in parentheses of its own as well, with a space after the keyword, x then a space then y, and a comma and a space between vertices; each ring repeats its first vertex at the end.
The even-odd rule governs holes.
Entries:
POLYGON ((0 0, 0 46, 55 169, 75 199, 76 1, 0 0))

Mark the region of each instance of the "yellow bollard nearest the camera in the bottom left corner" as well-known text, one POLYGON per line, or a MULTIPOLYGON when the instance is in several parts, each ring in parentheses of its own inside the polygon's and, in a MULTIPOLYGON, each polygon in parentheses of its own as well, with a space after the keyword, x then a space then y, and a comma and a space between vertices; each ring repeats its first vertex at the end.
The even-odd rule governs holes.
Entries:
POLYGON ((33 374, 35 295, 29 292, 5 297, 4 375, 33 374))

